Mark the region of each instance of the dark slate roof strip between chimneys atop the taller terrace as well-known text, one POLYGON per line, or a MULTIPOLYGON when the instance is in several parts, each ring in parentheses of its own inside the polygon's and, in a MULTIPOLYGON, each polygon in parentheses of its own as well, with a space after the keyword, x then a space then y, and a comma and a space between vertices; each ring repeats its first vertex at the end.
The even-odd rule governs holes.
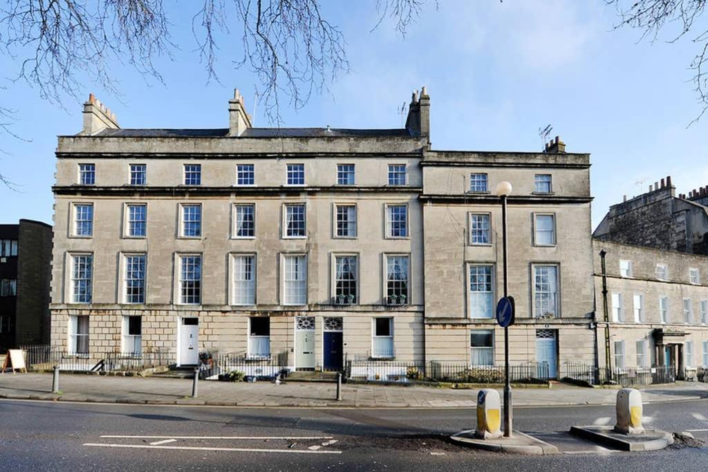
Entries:
MULTIPOLYGON (((171 138, 171 137, 227 137, 228 128, 214 129, 103 129, 98 137, 135 137, 135 138, 171 138)), ((412 137, 406 128, 396 129, 341 129, 331 128, 248 128, 240 137, 412 137)))

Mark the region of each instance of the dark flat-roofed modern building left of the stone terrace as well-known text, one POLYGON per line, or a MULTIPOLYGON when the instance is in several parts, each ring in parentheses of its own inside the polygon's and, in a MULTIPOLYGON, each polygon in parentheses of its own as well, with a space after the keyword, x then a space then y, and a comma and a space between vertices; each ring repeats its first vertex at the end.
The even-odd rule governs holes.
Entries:
POLYGON ((49 342, 52 226, 0 224, 0 352, 49 342))

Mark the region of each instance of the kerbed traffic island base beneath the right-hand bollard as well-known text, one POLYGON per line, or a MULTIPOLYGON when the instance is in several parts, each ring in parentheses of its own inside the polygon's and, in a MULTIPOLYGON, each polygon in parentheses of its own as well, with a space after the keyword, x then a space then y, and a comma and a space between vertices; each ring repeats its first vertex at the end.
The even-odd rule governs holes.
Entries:
POLYGON ((647 428, 641 434, 624 434, 612 426, 573 426, 571 434, 620 451, 656 451, 673 444, 670 432, 647 428))

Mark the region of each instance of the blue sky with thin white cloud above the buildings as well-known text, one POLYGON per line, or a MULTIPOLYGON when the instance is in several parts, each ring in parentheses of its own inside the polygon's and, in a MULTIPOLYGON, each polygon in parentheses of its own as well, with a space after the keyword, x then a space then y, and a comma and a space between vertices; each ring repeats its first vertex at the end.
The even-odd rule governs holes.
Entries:
MULTIPOLYGON (((593 225, 622 195, 639 195, 666 175, 677 192, 708 185, 708 116, 687 128, 700 113, 688 38, 638 42, 636 30, 612 30, 615 11, 600 0, 440 1, 437 10, 431 1, 406 38, 390 22, 371 31, 374 0, 323 3, 346 35, 353 71, 302 110, 281 110, 284 126, 400 127, 401 104, 426 85, 434 149, 535 151, 538 128, 551 123, 568 151, 591 153, 593 225)), ((96 93, 122 127, 227 127, 234 87, 253 111, 256 78, 231 64, 239 34, 221 45, 222 84, 206 84, 193 52, 193 6, 168 8, 181 50, 157 64, 166 84, 112 64, 120 96, 85 81, 81 100, 96 93)), ((16 65, 0 56, 0 70, 16 65)), ((51 223, 56 137, 79 132, 81 103, 63 97, 62 109, 26 84, 2 84, 2 103, 18 110, 13 132, 30 142, 0 134, 8 152, 1 172, 21 185, 21 192, 0 187, 0 221, 51 223)), ((268 126, 262 113, 255 118, 268 126)))

